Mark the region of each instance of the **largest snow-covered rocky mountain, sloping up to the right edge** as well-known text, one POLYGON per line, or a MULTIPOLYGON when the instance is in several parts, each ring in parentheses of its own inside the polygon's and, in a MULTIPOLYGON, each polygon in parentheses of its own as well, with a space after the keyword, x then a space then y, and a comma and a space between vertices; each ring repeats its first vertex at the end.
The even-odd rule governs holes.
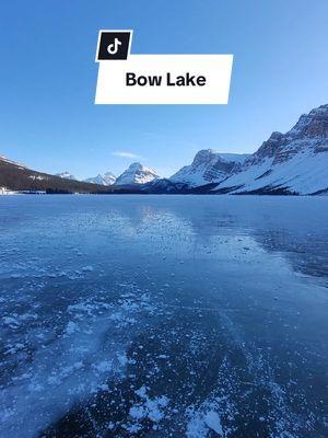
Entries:
POLYGON ((303 114, 286 134, 273 132, 216 188, 221 193, 328 192, 328 104, 303 114))

